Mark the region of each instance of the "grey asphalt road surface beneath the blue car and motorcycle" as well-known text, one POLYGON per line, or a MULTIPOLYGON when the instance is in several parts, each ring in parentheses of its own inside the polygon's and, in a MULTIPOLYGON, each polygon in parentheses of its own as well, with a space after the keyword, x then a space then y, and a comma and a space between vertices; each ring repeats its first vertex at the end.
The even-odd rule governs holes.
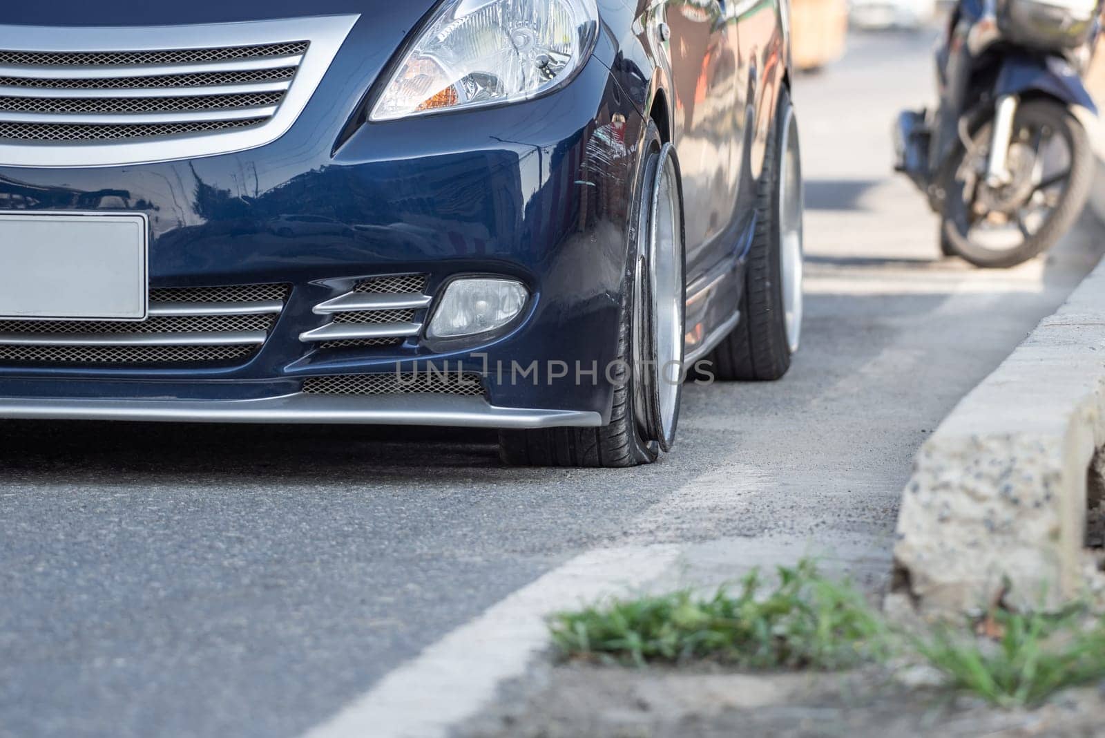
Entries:
POLYGON ((690 387, 652 467, 505 470, 472 433, 0 423, 0 736, 296 736, 592 547, 851 540, 881 566, 917 445, 1096 257, 939 260, 887 136, 929 50, 861 36, 798 82, 804 346, 781 382, 690 387))

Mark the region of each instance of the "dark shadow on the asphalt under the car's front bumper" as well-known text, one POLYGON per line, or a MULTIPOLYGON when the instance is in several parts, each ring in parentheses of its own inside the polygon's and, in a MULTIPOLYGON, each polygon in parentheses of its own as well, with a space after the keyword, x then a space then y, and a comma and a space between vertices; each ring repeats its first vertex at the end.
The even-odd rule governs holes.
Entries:
POLYGON ((452 429, 0 421, 0 477, 8 482, 208 473, 291 482, 498 465, 494 432, 452 429))

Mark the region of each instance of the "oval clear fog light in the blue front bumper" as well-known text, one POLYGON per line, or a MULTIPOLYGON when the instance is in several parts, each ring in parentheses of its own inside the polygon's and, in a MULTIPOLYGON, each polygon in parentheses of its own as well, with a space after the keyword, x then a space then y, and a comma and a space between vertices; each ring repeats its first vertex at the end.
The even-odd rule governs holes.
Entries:
POLYGON ((455 338, 502 328, 517 317, 528 297, 526 286, 514 280, 455 280, 433 314, 429 336, 455 338))

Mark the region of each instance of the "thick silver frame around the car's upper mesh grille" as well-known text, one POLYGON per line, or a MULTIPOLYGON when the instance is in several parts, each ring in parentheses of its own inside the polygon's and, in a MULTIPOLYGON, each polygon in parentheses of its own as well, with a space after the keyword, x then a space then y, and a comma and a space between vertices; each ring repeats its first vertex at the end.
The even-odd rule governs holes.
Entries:
MULTIPOLYGON (((359 14, 317 15, 246 23, 215 23, 209 25, 136 25, 112 28, 0 25, 0 38, 9 51, 31 52, 126 52, 158 51, 198 48, 230 48, 307 41, 309 46, 292 86, 267 122, 244 128, 168 139, 139 139, 133 141, 101 143, 18 143, 0 144, 0 161, 9 167, 116 167, 176 161, 198 157, 233 154, 265 146, 288 131, 315 94, 338 49, 345 42, 359 14)), ((172 73, 214 72, 222 70, 257 68, 257 63, 274 68, 295 63, 296 57, 253 60, 246 66, 241 60, 215 64, 191 64, 160 67, 172 73), (288 59, 292 61, 290 62, 288 59)), ((246 60, 249 61, 249 60, 246 60)), ((53 67, 52 78, 72 76, 75 68, 53 67)), ((104 76, 104 67, 94 67, 95 76, 104 76)), ((146 67, 119 67, 123 75, 149 75, 146 67), (141 70, 139 73, 138 70, 141 70)), ((155 74, 159 67, 152 67, 155 74)), ((13 70, 8 68, 7 73, 13 70)), ((0 70, 0 73, 6 73, 0 70)), ((27 71, 19 76, 25 76, 27 71)), ((93 76, 88 71, 87 76, 93 76)))

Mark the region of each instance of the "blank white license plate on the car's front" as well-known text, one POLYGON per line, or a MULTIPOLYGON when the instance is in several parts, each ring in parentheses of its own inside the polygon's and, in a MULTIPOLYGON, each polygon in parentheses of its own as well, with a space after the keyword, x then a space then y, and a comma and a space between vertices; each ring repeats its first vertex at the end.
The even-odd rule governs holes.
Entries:
POLYGON ((141 320, 143 214, 0 213, 0 319, 141 320))

